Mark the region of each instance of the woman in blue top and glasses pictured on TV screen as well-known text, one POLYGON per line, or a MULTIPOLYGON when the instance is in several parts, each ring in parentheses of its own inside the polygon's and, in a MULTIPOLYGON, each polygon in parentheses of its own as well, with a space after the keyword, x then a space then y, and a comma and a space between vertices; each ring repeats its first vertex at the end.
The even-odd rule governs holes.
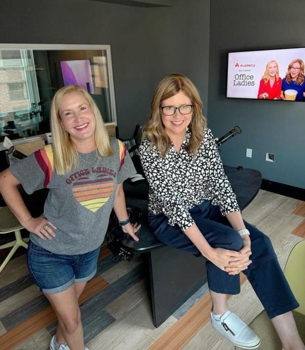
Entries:
POLYGON ((282 81, 281 99, 285 100, 286 90, 295 90, 295 101, 305 101, 305 76, 304 62, 295 59, 290 62, 285 78, 282 81))

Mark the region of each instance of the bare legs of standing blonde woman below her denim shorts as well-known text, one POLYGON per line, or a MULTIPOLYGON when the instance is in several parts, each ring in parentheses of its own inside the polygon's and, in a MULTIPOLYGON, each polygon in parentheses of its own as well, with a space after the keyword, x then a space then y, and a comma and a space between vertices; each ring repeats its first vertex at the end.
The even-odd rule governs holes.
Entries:
MULTIPOLYGON (((80 320, 80 309, 78 305, 77 290, 73 284, 69 289, 60 293, 45 294, 53 306, 60 332, 71 350, 84 350, 83 328, 80 320)), ((60 336, 60 335, 59 335, 60 336)), ((57 337, 56 337, 57 338, 57 337)), ((61 342, 63 339, 58 339, 61 342)))

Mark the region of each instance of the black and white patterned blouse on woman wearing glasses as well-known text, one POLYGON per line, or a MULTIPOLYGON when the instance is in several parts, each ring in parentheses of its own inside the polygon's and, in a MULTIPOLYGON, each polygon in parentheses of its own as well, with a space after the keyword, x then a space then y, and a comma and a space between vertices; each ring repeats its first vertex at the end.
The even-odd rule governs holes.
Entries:
POLYGON ((172 226, 178 224, 182 231, 194 224, 189 210, 204 200, 218 205, 224 216, 239 211, 210 129, 204 130, 203 141, 195 157, 185 150, 190 134, 188 130, 179 152, 171 144, 165 158, 159 155, 155 145, 148 150, 148 138, 139 146, 149 184, 148 211, 165 214, 168 223, 172 226))

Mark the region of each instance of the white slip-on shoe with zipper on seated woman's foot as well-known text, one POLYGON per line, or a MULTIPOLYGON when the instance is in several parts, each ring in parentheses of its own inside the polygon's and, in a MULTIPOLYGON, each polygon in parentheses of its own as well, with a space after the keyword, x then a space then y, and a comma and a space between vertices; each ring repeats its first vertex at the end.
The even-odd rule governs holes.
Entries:
POLYGON ((259 336, 234 312, 226 311, 219 321, 214 318, 212 311, 210 315, 212 326, 233 344, 243 349, 256 349, 259 347, 259 336))

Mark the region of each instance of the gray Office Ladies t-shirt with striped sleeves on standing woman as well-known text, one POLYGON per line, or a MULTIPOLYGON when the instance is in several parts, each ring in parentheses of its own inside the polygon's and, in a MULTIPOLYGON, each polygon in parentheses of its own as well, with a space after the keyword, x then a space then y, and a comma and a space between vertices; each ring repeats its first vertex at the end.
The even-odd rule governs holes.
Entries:
POLYGON ((31 241, 56 254, 84 254, 98 248, 106 234, 117 185, 135 173, 123 143, 111 138, 114 155, 79 154, 79 166, 65 175, 53 167, 51 145, 12 165, 10 170, 26 193, 49 193, 43 216, 57 229, 52 240, 30 232, 31 241))

